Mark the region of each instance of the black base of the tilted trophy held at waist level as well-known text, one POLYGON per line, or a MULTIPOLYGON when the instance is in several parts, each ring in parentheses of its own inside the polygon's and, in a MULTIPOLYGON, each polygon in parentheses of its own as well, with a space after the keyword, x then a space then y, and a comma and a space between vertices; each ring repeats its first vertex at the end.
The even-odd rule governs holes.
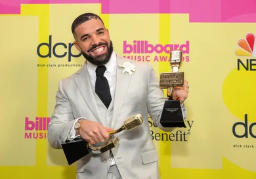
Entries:
POLYGON ((68 165, 72 165, 72 163, 75 163, 91 152, 88 142, 81 137, 65 142, 62 144, 62 149, 68 161, 68 165))

